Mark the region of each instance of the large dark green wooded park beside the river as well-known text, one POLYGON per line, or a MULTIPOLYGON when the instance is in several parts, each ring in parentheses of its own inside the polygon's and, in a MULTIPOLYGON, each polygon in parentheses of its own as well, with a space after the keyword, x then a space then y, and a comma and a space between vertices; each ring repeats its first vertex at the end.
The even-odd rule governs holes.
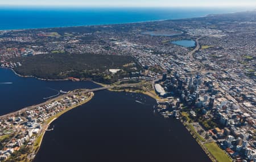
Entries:
POLYGON ((139 69, 133 57, 103 54, 39 54, 13 58, 10 61, 22 63, 22 66, 14 69, 21 75, 33 75, 44 79, 91 78, 101 83, 111 83, 131 76, 131 72, 139 69), (134 64, 131 64, 132 62, 134 64), (131 66, 124 66, 127 64, 131 66), (109 69, 122 71, 112 75, 109 69))

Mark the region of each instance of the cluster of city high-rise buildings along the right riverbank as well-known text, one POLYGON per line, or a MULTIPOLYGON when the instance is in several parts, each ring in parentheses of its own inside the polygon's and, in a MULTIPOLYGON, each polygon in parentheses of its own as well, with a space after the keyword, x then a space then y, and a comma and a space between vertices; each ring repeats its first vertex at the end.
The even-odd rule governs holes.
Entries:
POLYGON ((255 110, 255 106, 247 104, 247 101, 238 103, 221 89, 213 75, 208 73, 189 76, 174 71, 171 75, 163 74, 163 79, 156 88, 163 89, 164 93, 159 91, 160 96, 177 97, 175 102, 170 99, 170 107, 188 112, 192 121, 199 122, 230 157, 237 161, 255 161, 256 114, 251 111, 255 110), (180 106, 181 103, 183 107, 180 106), (188 109, 184 110, 184 105, 188 109))

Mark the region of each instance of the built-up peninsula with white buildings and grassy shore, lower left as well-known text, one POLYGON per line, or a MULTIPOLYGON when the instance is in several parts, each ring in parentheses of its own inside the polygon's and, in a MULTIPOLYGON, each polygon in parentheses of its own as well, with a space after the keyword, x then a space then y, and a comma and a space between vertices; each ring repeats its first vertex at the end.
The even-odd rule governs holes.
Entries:
POLYGON ((40 148, 44 133, 53 130, 49 128, 52 121, 65 112, 87 103, 94 93, 77 89, 65 95, 58 96, 39 105, 29 106, 16 112, 0 116, 1 124, 6 125, 1 136, 1 151, 7 161, 31 161, 40 148), (13 143, 17 143, 13 147, 13 143), (9 148, 11 147, 11 148, 9 148))

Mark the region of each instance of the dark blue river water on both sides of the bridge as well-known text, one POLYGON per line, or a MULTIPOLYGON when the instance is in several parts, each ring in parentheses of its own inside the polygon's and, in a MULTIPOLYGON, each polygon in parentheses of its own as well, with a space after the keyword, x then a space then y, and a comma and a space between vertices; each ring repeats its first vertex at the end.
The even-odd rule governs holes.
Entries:
MULTIPOLYGON (((0 114, 45 101, 57 91, 99 87, 92 82, 22 78, 0 69, 0 114)), ((210 161, 175 118, 154 113, 140 93, 95 92, 92 100, 51 123, 35 157, 40 161, 210 161)))

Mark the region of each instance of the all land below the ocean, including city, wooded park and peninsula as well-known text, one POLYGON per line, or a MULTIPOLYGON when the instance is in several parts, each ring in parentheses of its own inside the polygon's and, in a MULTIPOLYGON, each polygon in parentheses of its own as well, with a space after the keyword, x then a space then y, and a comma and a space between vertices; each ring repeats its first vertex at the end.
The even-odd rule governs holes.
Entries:
MULTIPOLYGON (((183 122, 212 161, 255 161, 255 24, 256 11, 248 11, 158 22, 0 31, 0 61, 2 67, 23 76, 92 80, 103 86, 98 90, 146 93, 156 99, 156 112, 183 122), (176 45, 174 41, 190 43, 176 45)), ((0 159, 33 159, 44 131, 51 130, 48 123, 67 105, 72 108, 89 100, 92 91, 72 91, 47 106, 4 116, 0 159), (22 156, 29 148, 29 156, 22 156)))

